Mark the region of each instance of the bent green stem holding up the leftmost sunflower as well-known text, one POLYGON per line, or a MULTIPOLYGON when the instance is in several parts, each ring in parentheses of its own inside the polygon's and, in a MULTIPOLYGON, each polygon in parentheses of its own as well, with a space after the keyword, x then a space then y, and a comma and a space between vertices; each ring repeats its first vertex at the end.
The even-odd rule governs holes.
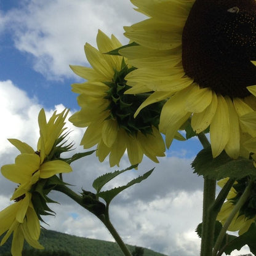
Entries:
MULTIPOLYGON (((80 206, 84 207, 86 210, 89 210, 86 207, 86 205, 84 204, 82 196, 80 196, 79 194, 74 193, 74 191, 70 190, 70 188, 68 188, 67 186, 65 186, 65 185, 57 185, 57 186, 55 186, 54 190, 57 190, 57 191, 60 191, 60 192, 62 192, 64 194, 66 194, 71 199, 73 199, 75 202, 80 204, 80 206)), ((92 212, 91 210, 89 210, 89 211, 92 212)), ((92 214, 94 214, 94 212, 92 212, 92 214)), ((132 254, 130 254, 130 251, 127 248, 126 244, 124 244, 124 242, 122 241, 122 239, 119 236, 118 232, 115 230, 114 226, 110 222, 110 217, 108 215, 108 206, 106 207, 105 214, 102 214, 100 216, 98 216, 98 215, 95 215, 95 216, 98 217, 103 222, 103 224, 106 226, 108 231, 110 231, 110 233, 112 234, 113 238, 118 243, 118 246, 120 247, 120 249, 122 250, 124 255, 125 256, 132 256, 132 254)))

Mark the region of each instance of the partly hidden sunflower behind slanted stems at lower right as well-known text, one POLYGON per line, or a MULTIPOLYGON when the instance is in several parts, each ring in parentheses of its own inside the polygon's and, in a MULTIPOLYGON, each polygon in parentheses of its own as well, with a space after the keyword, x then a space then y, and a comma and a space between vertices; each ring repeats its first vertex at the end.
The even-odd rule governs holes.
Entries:
MULTIPOLYGON (((218 182, 218 185, 220 187, 223 187, 226 183, 226 180, 228 178, 225 178, 223 180, 220 180, 218 182)), ((239 198, 241 197, 242 193, 246 189, 246 186, 248 184, 248 178, 242 178, 241 180, 237 180, 234 182, 233 187, 231 188, 230 192, 228 193, 227 200, 224 202, 222 209, 220 209, 220 212, 218 213, 217 220, 222 222, 224 224, 231 214, 232 210, 234 209, 234 206, 236 205, 236 202, 238 202, 239 198)), ((252 189, 252 192, 250 193, 249 198, 245 202, 245 204, 241 207, 239 212, 234 216, 232 222, 230 223, 230 226, 228 227, 229 231, 239 231, 239 235, 245 233, 247 230, 249 230, 250 225, 256 221, 256 191, 255 186, 252 189)))

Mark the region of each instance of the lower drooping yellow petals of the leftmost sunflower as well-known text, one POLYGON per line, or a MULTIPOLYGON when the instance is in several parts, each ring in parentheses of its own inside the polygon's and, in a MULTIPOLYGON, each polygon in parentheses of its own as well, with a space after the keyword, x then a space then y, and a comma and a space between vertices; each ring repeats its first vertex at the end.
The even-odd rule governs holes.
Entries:
POLYGON ((11 249, 13 256, 22 256, 24 239, 30 246, 36 249, 44 249, 38 242, 40 224, 31 203, 31 194, 25 193, 16 201, 0 212, 0 235, 7 231, 4 238, 2 238, 1 246, 13 233, 11 249))

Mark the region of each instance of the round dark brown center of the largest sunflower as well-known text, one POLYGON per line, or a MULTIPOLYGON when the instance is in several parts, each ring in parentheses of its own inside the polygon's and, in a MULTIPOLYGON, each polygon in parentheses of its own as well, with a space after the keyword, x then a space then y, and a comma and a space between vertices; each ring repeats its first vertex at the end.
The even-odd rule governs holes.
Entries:
POLYGON ((256 1, 196 0, 182 34, 182 63, 201 88, 231 98, 256 85, 256 1))

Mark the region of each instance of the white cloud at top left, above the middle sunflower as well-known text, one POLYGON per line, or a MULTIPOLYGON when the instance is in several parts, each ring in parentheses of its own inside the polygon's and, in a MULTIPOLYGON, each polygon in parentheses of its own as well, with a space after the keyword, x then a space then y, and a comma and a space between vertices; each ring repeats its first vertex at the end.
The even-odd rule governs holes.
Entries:
POLYGON ((73 76, 68 65, 86 64, 83 46, 95 45, 98 29, 127 43, 122 27, 142 16, 127 0, 25 2, 6 14, 6 28, 12 28, 15 47, 33 55, 34 69, 49 79, 73 76))

